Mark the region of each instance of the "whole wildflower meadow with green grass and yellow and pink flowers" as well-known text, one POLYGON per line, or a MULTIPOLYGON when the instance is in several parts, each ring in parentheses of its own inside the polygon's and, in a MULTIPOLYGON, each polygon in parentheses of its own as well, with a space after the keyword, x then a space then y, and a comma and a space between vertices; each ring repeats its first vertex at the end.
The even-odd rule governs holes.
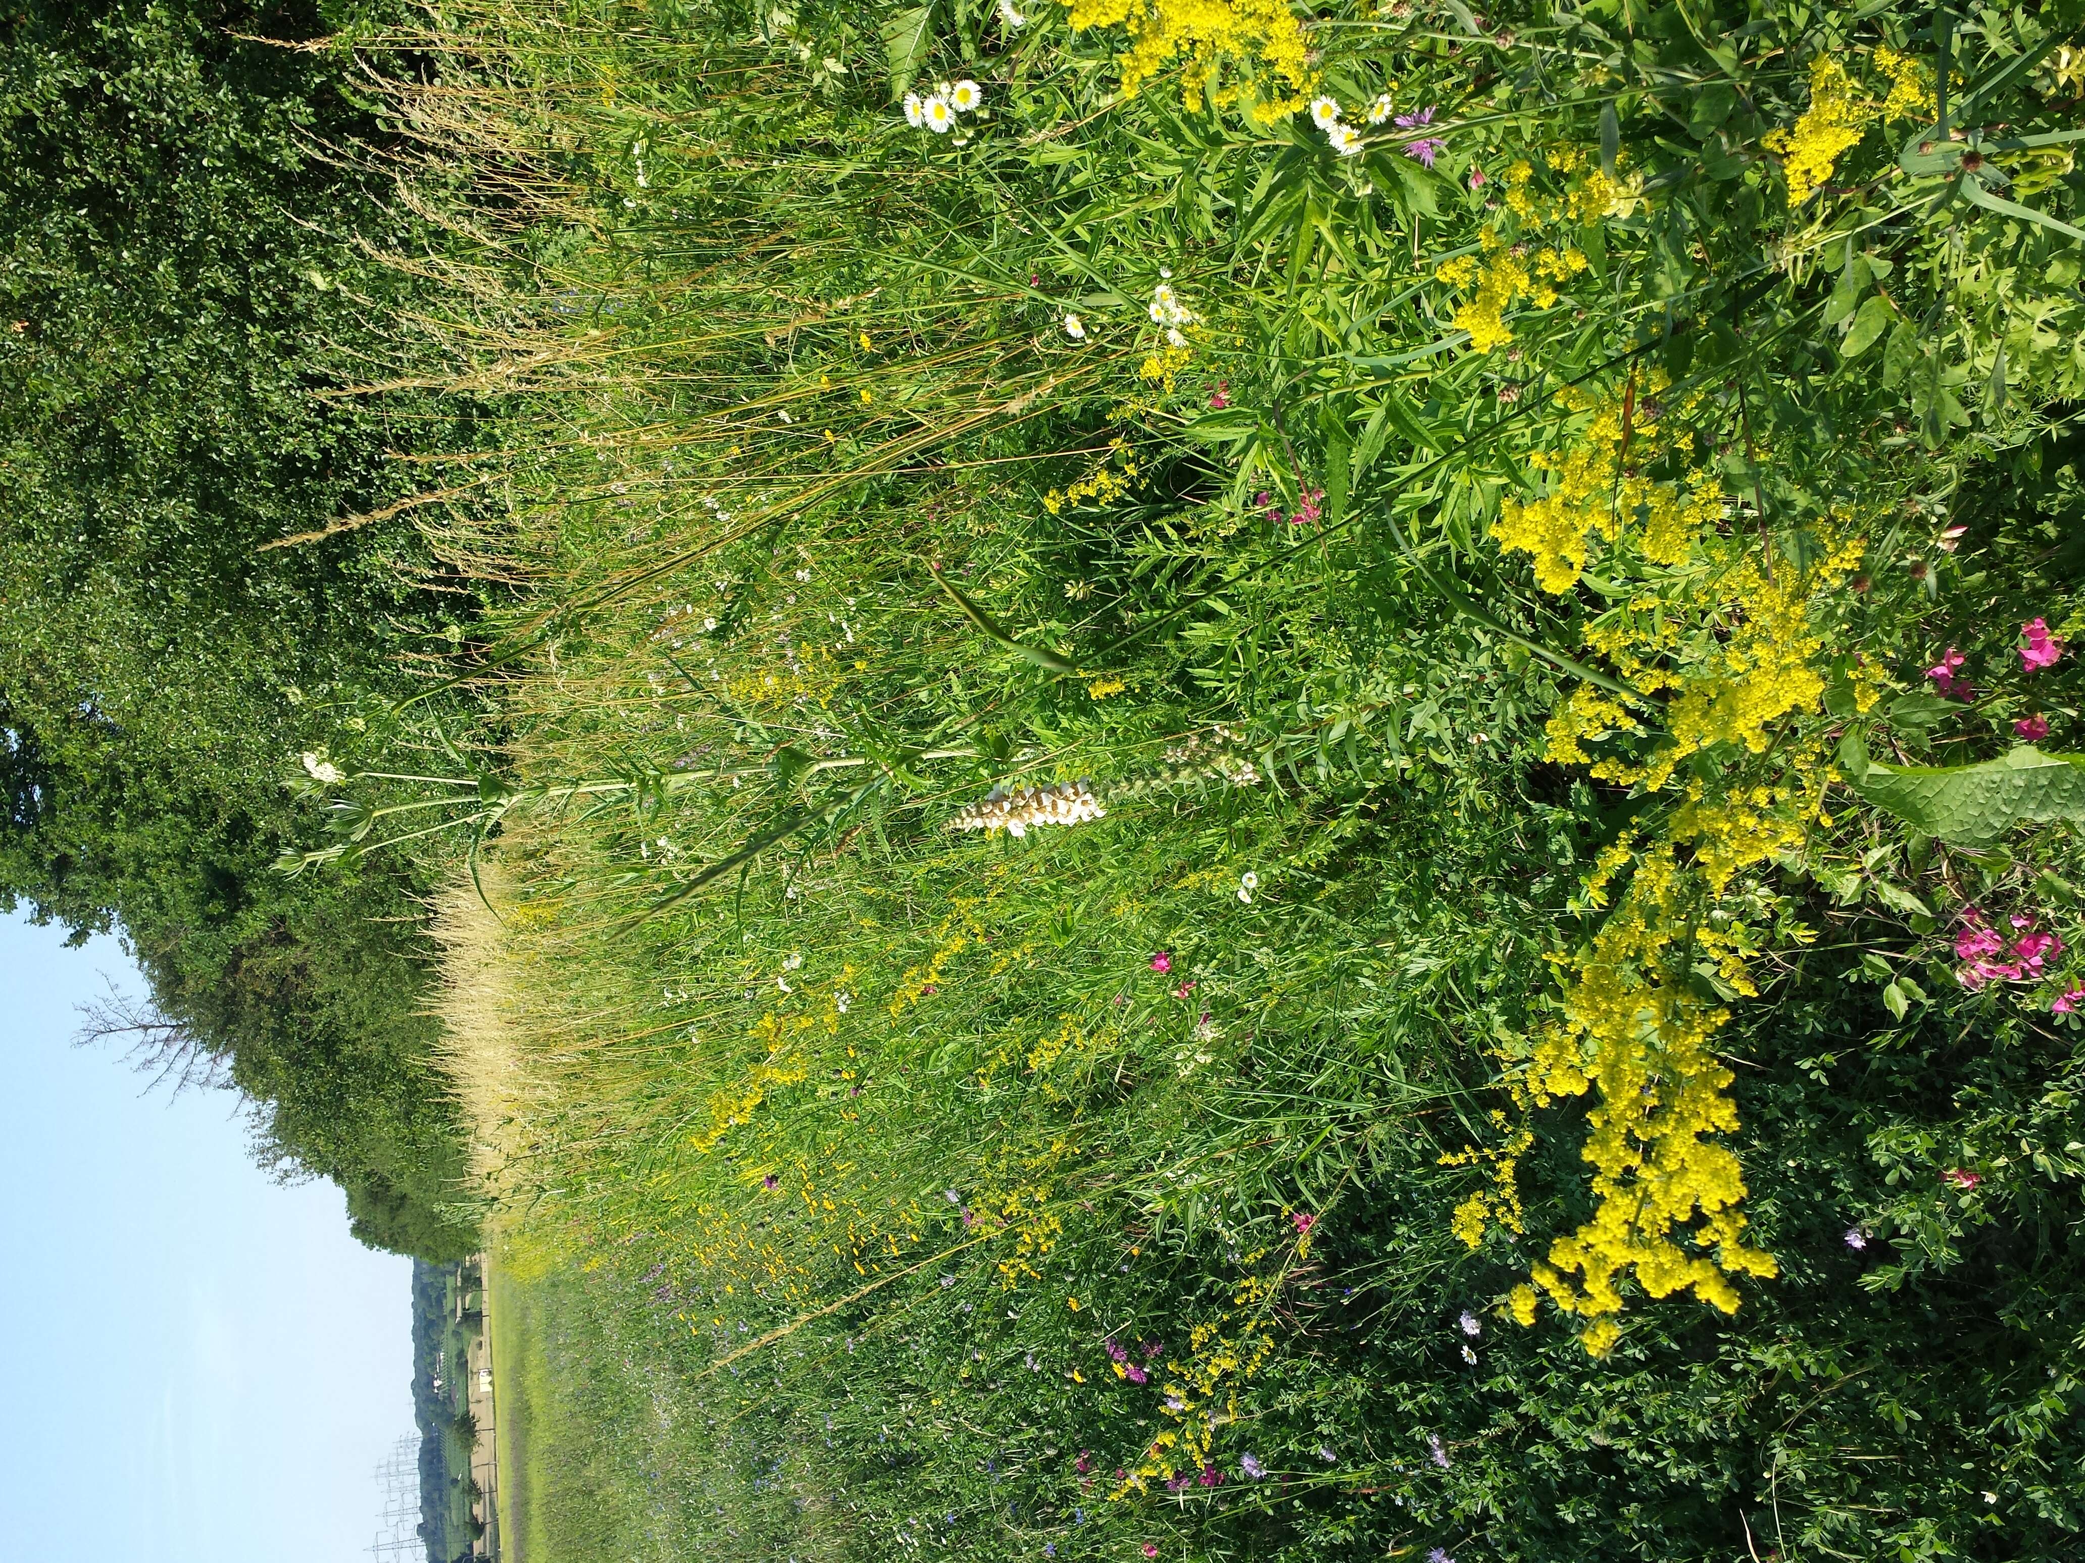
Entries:
POLYGON ((2075 267, 1924 10, 1510 10, 363 42, 530 1563, 2081 1523, 2075 267))

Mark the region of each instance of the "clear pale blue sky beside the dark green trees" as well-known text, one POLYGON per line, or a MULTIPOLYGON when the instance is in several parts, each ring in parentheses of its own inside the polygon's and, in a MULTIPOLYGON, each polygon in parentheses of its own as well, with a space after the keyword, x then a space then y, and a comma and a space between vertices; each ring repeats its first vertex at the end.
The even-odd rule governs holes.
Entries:
POLYGON ((411 1263, 281 1188, 229 1092, 75 1048, 113 940, 0 917, 0 1555, 367 1559, 375 1465, 413 1432, 411 1263))

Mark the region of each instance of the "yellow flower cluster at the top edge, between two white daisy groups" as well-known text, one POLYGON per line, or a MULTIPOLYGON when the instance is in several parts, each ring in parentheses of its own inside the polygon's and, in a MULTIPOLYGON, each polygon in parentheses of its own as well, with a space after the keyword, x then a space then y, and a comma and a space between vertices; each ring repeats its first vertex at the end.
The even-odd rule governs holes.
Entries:
POLYGON ((1188 108, 1201 108, 1205 98, 1218 106, 1236 100, 1236 85, 1218 83, 1226 58, 1264 65, 1272 81, 1286 85, 1255 104, 1259 119, 1293 115, 1318 79, 1289 0, 1072 0, 1076 31, 1115 25, 1130 29, 1130 48, 1118 56, 1124 98, 1178 56, 1186 56, 1180 96, 1188 108))

